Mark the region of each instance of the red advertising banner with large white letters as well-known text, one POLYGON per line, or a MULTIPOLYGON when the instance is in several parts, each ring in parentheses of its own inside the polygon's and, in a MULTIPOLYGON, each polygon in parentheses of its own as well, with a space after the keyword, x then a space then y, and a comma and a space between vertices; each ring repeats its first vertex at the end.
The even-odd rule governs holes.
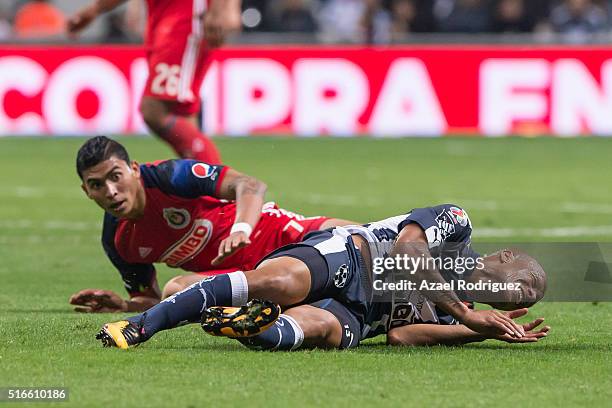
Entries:
MULTIPOLYGON (((214 54, 210 133, 612 135, 612 47, 254 47, 214 54)), ((0 135, 145 133, 138 47, 0 47, 0 135)))

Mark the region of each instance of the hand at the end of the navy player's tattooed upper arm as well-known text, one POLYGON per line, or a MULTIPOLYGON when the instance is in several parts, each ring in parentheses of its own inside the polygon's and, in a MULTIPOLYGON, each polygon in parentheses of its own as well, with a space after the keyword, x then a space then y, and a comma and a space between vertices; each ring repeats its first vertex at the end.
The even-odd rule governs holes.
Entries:
MULTIPOLYGON (((526 313, 527 309, 524 310, 526 313)), ((504 334, 517 339, 525 336, 523 326, 512 320, 508 314, 497 310, 469 310, 461 319, 461 323, 489 338, 504 334)))

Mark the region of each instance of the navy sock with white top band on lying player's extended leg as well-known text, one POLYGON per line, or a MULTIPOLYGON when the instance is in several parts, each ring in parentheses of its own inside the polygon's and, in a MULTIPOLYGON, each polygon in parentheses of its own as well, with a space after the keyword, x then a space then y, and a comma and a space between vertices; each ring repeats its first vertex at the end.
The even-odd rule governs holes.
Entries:
POLYGON ((142 322, 142 334, 147 340, 158 331, 199 322, 202 312, 208 307, 242 306, 247 300, 246 277, 239 271, 205 278, 127 320, 142 322))

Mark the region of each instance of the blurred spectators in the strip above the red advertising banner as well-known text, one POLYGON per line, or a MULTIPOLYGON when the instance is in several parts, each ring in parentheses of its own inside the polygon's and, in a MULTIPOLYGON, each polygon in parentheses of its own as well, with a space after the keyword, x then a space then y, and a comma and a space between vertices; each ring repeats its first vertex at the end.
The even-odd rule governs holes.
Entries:
MULTIPOLYGON (((28 16, 25 5, 36 0, 14 0, 0 5, 3 41, 62 40, 62 16, 87 0, 47 0, 53 12, 44 21, 28 16), (53 17, 51 17, 53 16, 53 17), (35 21, 34 21, 35 20, 35 21)), ((282 33, 274 42, 346 42, 389 44, 431 41, 431 34, 526 34, 523 40, 605 41, 610 33, 608 0, 245 0, 242 22, 248 35, 282 33), (295 37, 287 37, 287 33, 295 37), (298 36, 302 34, 301 36, 298 36), (426 34, 422 36, 420 34, 426 34), (429 40, 427 39, 429 37, 429 40)), ((40 9, 37 10, 40 12, 40 9)), ((137 42, 142 37, 146 10, 130 0, 94 27, 83 39, 91 42, 137 42)), ((460 37, 465 41, 465 37, 460 37)), ((517 37, 518 38, 518 37, 517 37)), ((475 41, 482 41, 474 37, 475 41)), ((494 41, 498 41, 494 39, 494 41)))

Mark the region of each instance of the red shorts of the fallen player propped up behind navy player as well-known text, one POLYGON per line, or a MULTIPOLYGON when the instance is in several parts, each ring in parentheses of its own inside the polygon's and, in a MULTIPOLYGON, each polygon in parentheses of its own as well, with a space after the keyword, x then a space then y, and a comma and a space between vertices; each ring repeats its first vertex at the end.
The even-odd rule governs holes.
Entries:
POLYGON ((278 208, 274 203, 266 203, 261 219, 251 234, 251 244, 227 258, 227 264, 221 265, 223 269, 198 273, 218 275, 237 270, 254 269, 257 262, 270 252, 302 241, 306 234, 318 231, 321 225, 329 219, 328 217, 304 217, 278 208))

